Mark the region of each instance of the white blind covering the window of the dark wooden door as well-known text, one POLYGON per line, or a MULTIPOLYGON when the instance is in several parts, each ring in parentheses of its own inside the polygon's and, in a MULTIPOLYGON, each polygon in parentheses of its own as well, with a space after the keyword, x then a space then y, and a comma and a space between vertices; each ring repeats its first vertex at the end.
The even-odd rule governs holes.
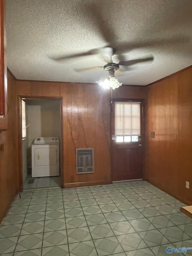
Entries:
POLYGON ((115 102, 115 135, 140 134, 140 102, 115 102))

